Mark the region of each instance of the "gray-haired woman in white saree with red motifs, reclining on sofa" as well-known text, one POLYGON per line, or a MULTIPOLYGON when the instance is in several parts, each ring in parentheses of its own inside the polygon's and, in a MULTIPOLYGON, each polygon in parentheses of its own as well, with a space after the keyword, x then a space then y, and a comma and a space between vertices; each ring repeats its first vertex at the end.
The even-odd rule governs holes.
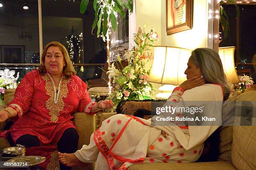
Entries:
MULTIPOLYGON (((187 80, 174 89, 167 101, 184 105, 186 101, 223 101, 228 98, 230 87, 217 52, 197 48, 192 51, 187 65, 187 80)), ((221 105, 209 108, 215 117, 221 117, 221 105)), ((180 116, 179 112, 174 114, 180 116)), ((159 116, 166 117, 166 114, 159 116)), ((153 126, 150 120, 118 114, 102 122, 91 135, 88 146, 84 145, 73 154, 59 153, 59 160, 67 166, 96 161, 97 170, 125 170, 136 163, 195 162, 202 154, 205 140, 219 126, 214 122, 190 126, 186 121, 175 120, 153 126)))

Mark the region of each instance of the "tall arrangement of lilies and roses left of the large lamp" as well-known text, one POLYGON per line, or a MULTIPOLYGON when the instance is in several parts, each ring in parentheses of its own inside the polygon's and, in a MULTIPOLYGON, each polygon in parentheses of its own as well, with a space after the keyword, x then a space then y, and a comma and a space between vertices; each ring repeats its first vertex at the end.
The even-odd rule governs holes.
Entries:
MULTIPOLYGON (((159 35, 154 28, 145 32, 138 28, 138 33, 134 34, 133 41, 137 47, 129 51, 127 60, 128 66, 124 68, 115 68, 114 63, 108 68, 108 75, 113 80, 113 89, 109 98, 113 99, 115 105, 123 100, 146 100, 151 99, 152 85, 147 82, 148 75, 151 71, 145 69, 146 63, 152 59, 153 54, 150 47, 153 47, 155 40, 159 40, 159 35)), ((120 56, 118 62, 121 63, 120 56)))

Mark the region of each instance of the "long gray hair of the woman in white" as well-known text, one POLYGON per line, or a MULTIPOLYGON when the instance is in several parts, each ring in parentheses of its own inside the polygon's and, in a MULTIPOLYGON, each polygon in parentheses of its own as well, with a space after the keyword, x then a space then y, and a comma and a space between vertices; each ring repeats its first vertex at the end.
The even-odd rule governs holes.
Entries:
POLYGON ((230 86, 225 76, 218 52, 210 48, 197 48, 192 51, 190 59, 200 68, 206 83, 216 83, 223 87, 224 100, 230 95, 230 86))

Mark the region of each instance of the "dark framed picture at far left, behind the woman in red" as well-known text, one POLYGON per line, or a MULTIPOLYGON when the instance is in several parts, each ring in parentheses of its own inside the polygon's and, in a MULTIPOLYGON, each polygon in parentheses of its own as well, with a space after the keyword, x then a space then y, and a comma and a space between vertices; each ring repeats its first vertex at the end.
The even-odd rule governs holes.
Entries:
POLYGON ((25 45, 1 45, 1 63, 24 63, 25 45))

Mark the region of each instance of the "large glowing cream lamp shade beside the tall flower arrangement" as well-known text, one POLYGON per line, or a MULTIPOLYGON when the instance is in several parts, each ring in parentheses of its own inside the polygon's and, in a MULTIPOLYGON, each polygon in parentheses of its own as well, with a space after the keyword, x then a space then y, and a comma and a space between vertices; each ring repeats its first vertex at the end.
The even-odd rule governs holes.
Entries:
POLYGON ((187 80, 184 71, 191 50, 179 47, 154 46, 154 61, 148 82, 180 85, 187 80))

